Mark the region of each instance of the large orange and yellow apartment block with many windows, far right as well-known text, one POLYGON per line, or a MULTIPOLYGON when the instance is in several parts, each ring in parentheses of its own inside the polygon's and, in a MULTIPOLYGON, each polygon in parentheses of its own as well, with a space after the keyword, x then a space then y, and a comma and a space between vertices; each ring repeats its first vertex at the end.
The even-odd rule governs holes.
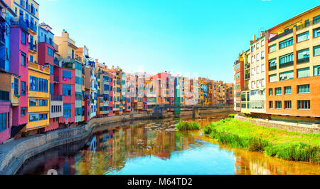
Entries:
POLYGON ((267 31, 267 108, 272 118, 320 117, 320 6, 267 31))

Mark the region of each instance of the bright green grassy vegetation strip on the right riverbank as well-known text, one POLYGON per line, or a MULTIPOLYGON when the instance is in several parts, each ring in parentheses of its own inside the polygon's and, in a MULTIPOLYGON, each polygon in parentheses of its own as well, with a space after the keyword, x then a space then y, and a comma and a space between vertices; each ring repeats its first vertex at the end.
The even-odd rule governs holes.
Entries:
POLYGON ((307 161, 320 165, 320 134, 265 128, 234 118, 210 123, 205 126, 204 133, 233 148, 245 148, 284 160, 307 161))

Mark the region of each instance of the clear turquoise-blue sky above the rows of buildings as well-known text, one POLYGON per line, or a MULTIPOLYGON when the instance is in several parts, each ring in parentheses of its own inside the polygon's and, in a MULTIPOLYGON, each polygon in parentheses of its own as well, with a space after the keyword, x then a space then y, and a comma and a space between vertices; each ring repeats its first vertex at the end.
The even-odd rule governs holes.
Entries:
POLYGON ((90 56, 124 71, 233 82, 233 62, 253 34, 319 0, 36 0, 40 21, 65 29, 90 56))

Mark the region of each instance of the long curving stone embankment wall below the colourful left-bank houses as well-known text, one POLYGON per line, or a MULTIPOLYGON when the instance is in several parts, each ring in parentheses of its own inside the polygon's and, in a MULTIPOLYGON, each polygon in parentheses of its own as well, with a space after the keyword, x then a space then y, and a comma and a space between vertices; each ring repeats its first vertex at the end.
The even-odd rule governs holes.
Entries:
MULTIPOLYGON (((201 115, 208 113, 230 112, 232 108, 201 110, 201 115)), ((181 111, 180 116, 191 116, 192 111, 181 111)), ((172 112, 163 113, 162 118, 175 117, 172 112)), ((121 116, 110 116, 92 118, 87 124, 76 128, 64 128, 48 133, 38 134, 28 138, 19 138, 14 141, 0 145, 0 175, 15 174, 21 165, 38 153, 50 148, 57 147, 76 141, 85 140, 90 137, 93 128, 100 125, 117 123, 122 121, 151 120, 154 116, 151 113, 131 113, 121 116)))

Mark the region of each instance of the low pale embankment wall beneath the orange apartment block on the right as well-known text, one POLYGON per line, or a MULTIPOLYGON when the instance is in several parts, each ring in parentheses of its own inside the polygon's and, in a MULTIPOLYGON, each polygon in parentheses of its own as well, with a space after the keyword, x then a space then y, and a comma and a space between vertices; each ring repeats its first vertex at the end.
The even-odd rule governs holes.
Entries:
POLYGON ((285 121, 272 121, 259 118, 246 118, 244 116, 235 116, 239 121, 249 121, 257 126, 264 126, 268 128, 279 128, 286 131, 293 131, 299 133, 320 133, 320 126, 317 124, 302 124, 302 123, 289 123, 285 121))

